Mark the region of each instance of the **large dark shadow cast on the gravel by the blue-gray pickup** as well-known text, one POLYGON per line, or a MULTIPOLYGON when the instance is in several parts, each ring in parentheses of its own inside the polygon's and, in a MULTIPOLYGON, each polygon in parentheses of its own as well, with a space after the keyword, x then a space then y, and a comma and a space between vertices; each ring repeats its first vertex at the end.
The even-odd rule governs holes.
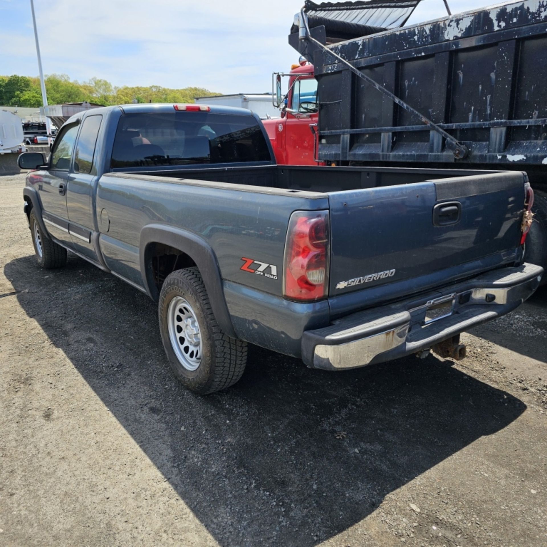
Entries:
POLYGON ((335 374, 258 347, 236 386, 197 397, 168 369, 147 296, 77 258, 4 272, 223 546, 316 545, 526 408, 434 357, 335 374))

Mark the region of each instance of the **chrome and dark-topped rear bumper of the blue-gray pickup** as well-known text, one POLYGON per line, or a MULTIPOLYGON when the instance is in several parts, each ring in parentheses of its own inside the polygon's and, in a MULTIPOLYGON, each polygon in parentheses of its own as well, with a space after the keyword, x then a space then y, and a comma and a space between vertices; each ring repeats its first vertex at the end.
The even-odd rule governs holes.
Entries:
POLYGON ((538 288, 543 268, 507 267, 432 293, 337 319, 302 335, 302 360, 311 368, 342 370, 416 353, 475 325, 505 315, 538 288), (437 302, 445 315, 426 317, 437 302))

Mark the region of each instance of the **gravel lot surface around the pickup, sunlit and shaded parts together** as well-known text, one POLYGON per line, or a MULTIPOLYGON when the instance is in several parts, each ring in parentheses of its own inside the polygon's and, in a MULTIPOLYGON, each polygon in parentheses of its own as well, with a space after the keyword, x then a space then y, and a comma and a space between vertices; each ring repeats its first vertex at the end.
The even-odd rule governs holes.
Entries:
POLYGON ((547 545, 547 290, 457 364, 252 347, 202 398, 145 295, 38 268, 23 186, 0 177, 0 545, 547 545))

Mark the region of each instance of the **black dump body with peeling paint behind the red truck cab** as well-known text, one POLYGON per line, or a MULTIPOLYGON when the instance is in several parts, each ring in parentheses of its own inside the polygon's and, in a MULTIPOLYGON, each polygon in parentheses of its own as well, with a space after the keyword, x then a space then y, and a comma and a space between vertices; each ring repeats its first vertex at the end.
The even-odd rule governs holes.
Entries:
MULTIPOLYGON (((311 34, 321 41, 317 28, 311 34)), ((296 45, 294 34, 289 42, 296 45)), ((516 168, 531 179, 547 169, 547 1, 508 2, 328 45, 464 144, 463 159, 439 131, 328 51, 306 48, 318 80, 319 159, 516 168)))

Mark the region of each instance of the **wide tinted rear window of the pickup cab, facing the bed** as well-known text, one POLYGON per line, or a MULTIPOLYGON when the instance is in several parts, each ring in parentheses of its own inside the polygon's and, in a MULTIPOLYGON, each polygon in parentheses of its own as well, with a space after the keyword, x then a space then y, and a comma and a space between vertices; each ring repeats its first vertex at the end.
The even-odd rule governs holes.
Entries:
POLYGON ((257 120, 210 112, 125 114, 111 167, 270 161, 257 120))

